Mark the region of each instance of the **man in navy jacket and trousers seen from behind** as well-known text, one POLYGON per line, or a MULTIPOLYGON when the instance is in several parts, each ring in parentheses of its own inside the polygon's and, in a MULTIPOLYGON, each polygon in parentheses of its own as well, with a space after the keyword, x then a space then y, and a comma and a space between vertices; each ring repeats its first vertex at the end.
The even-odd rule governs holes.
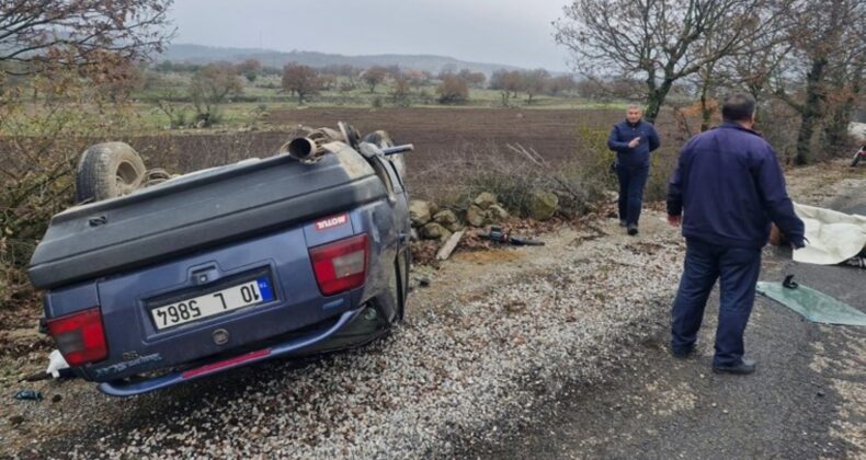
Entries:
POLYGON ((725 123, 685 145, 668 187, 668 221, 682 223, 686 241, 672 311, 671 353, 685 357, 694 350, 704 307, 718 278, 716 372, 754 372, 754 361, 743 359, 743 332, 770 222, 794 248, 804 245, 804 223, 794 214, 776 153, 752 130, 754 106, 748 95, 728 96, 721 107, 725 123))

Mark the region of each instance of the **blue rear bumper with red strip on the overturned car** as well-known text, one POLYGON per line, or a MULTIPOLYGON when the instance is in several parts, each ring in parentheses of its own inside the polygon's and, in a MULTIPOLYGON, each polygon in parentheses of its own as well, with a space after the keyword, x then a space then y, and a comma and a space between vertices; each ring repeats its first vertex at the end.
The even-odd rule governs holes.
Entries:
POLYGON ((333 335, 350 325, 353 320, 358 318, 365 308, 350 310, 340 315, 337 322, 324 331, 319 331, 304 337, 296 337, 275 344, 270 347, 258 349, 241 354, 228 359, 215 360, 192 369, 183 371, 174 371, 160 377, 136 382, 103 382, 99 384, 99 390, 112 396, 132 396, 136 394, 147 393, 155 390, 160 390, 173 384, 195 380, 202 377, 212 376, 225 370, 235 369, 253 363, 263 361, 265 359, 275 358, 278 356, 286 356, 296 353, 303 353, 308 349, 319 348, 333 335))

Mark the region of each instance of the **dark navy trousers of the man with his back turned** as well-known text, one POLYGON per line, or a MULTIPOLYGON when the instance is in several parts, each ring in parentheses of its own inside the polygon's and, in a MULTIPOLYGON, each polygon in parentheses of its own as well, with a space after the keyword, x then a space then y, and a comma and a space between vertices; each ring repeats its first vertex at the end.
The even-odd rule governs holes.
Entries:
POLYGON ((743 333, 752 313, 760 272, 760 249, 720 246, 687 240, 685 269, 673 304, 671 348, 686 352, 694 346, 707 298, 718 278, 721 301, 713 365, 739 365, 744 352, 743 333))

